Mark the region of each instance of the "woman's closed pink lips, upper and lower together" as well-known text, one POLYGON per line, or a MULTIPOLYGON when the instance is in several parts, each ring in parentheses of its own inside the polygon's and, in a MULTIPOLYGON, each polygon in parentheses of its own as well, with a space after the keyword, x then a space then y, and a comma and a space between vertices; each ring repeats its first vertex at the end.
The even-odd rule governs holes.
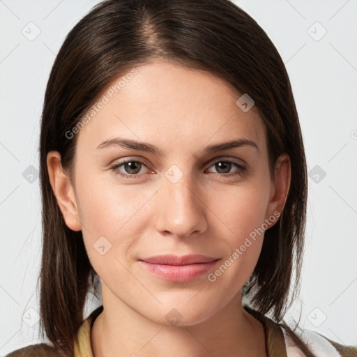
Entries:
POLYGON ((139 259, 150 273, 172 282, 188 282, 211 269, 219 258, 206 255, 160 255, 139 259))

